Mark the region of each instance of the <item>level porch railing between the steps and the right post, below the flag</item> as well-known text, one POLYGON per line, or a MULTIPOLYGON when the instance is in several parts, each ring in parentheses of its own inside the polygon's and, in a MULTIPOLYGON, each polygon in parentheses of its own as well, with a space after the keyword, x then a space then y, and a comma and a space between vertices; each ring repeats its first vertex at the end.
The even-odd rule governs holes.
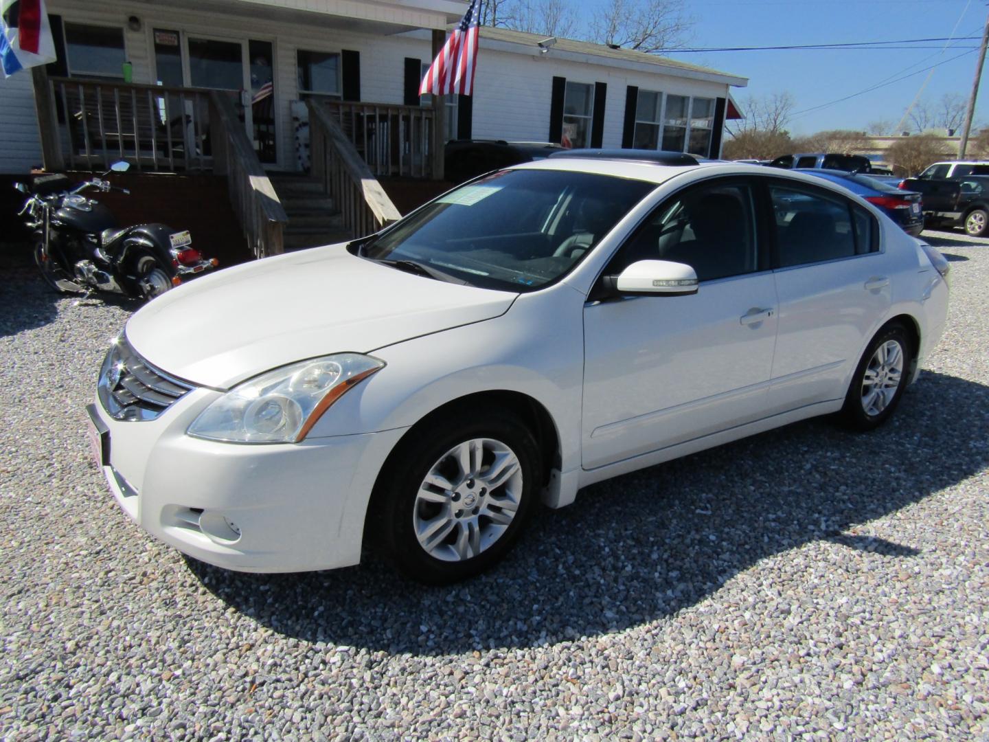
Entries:
POLYGON ((432 177, 432 109, 344 101, 320 107, 376 176, 432 177))

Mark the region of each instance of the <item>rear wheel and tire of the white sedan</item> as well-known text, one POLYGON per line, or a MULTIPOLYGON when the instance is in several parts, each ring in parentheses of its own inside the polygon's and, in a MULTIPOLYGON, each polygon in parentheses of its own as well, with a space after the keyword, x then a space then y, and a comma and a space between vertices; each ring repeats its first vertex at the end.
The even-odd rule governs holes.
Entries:
POLYGON ((854 430, 871 430, 885 422, 903 397, 914 358, 913 342, 903 325, 880 329, 855 368, 841 417, 854 430))

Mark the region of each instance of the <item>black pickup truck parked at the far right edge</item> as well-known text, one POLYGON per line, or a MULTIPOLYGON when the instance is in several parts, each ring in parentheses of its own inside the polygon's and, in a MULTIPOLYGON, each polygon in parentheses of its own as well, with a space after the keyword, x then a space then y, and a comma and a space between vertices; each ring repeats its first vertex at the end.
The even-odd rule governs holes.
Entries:
POLYGON ((900 188, 922 194, 926 227, 961 227, 973 237, 989 236, 989 175, 907 178, 900 188))

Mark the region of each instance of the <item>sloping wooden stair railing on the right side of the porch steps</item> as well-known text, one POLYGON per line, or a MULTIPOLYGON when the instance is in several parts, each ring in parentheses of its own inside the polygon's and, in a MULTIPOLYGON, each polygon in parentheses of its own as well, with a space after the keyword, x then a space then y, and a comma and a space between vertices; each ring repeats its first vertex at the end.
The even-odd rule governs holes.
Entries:
POLYGON ((312 173, 340 210, 344 227, 360 237, 401 219, 399 210, 336 118, 318 102, 309 100, 306 106, 312 173))

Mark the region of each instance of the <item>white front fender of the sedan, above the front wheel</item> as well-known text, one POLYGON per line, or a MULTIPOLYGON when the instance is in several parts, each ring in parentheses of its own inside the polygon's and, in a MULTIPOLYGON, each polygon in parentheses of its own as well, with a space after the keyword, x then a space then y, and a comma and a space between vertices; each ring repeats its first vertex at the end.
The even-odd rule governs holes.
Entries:
POLYGON ((473 394, 508 391, 542 405, 557 427, 561 470, 580 466, 584 298, 559 284, 525 294, 501 317, 379 348, 386 367, 345 394, 310 436, 408 427, 473 394))

